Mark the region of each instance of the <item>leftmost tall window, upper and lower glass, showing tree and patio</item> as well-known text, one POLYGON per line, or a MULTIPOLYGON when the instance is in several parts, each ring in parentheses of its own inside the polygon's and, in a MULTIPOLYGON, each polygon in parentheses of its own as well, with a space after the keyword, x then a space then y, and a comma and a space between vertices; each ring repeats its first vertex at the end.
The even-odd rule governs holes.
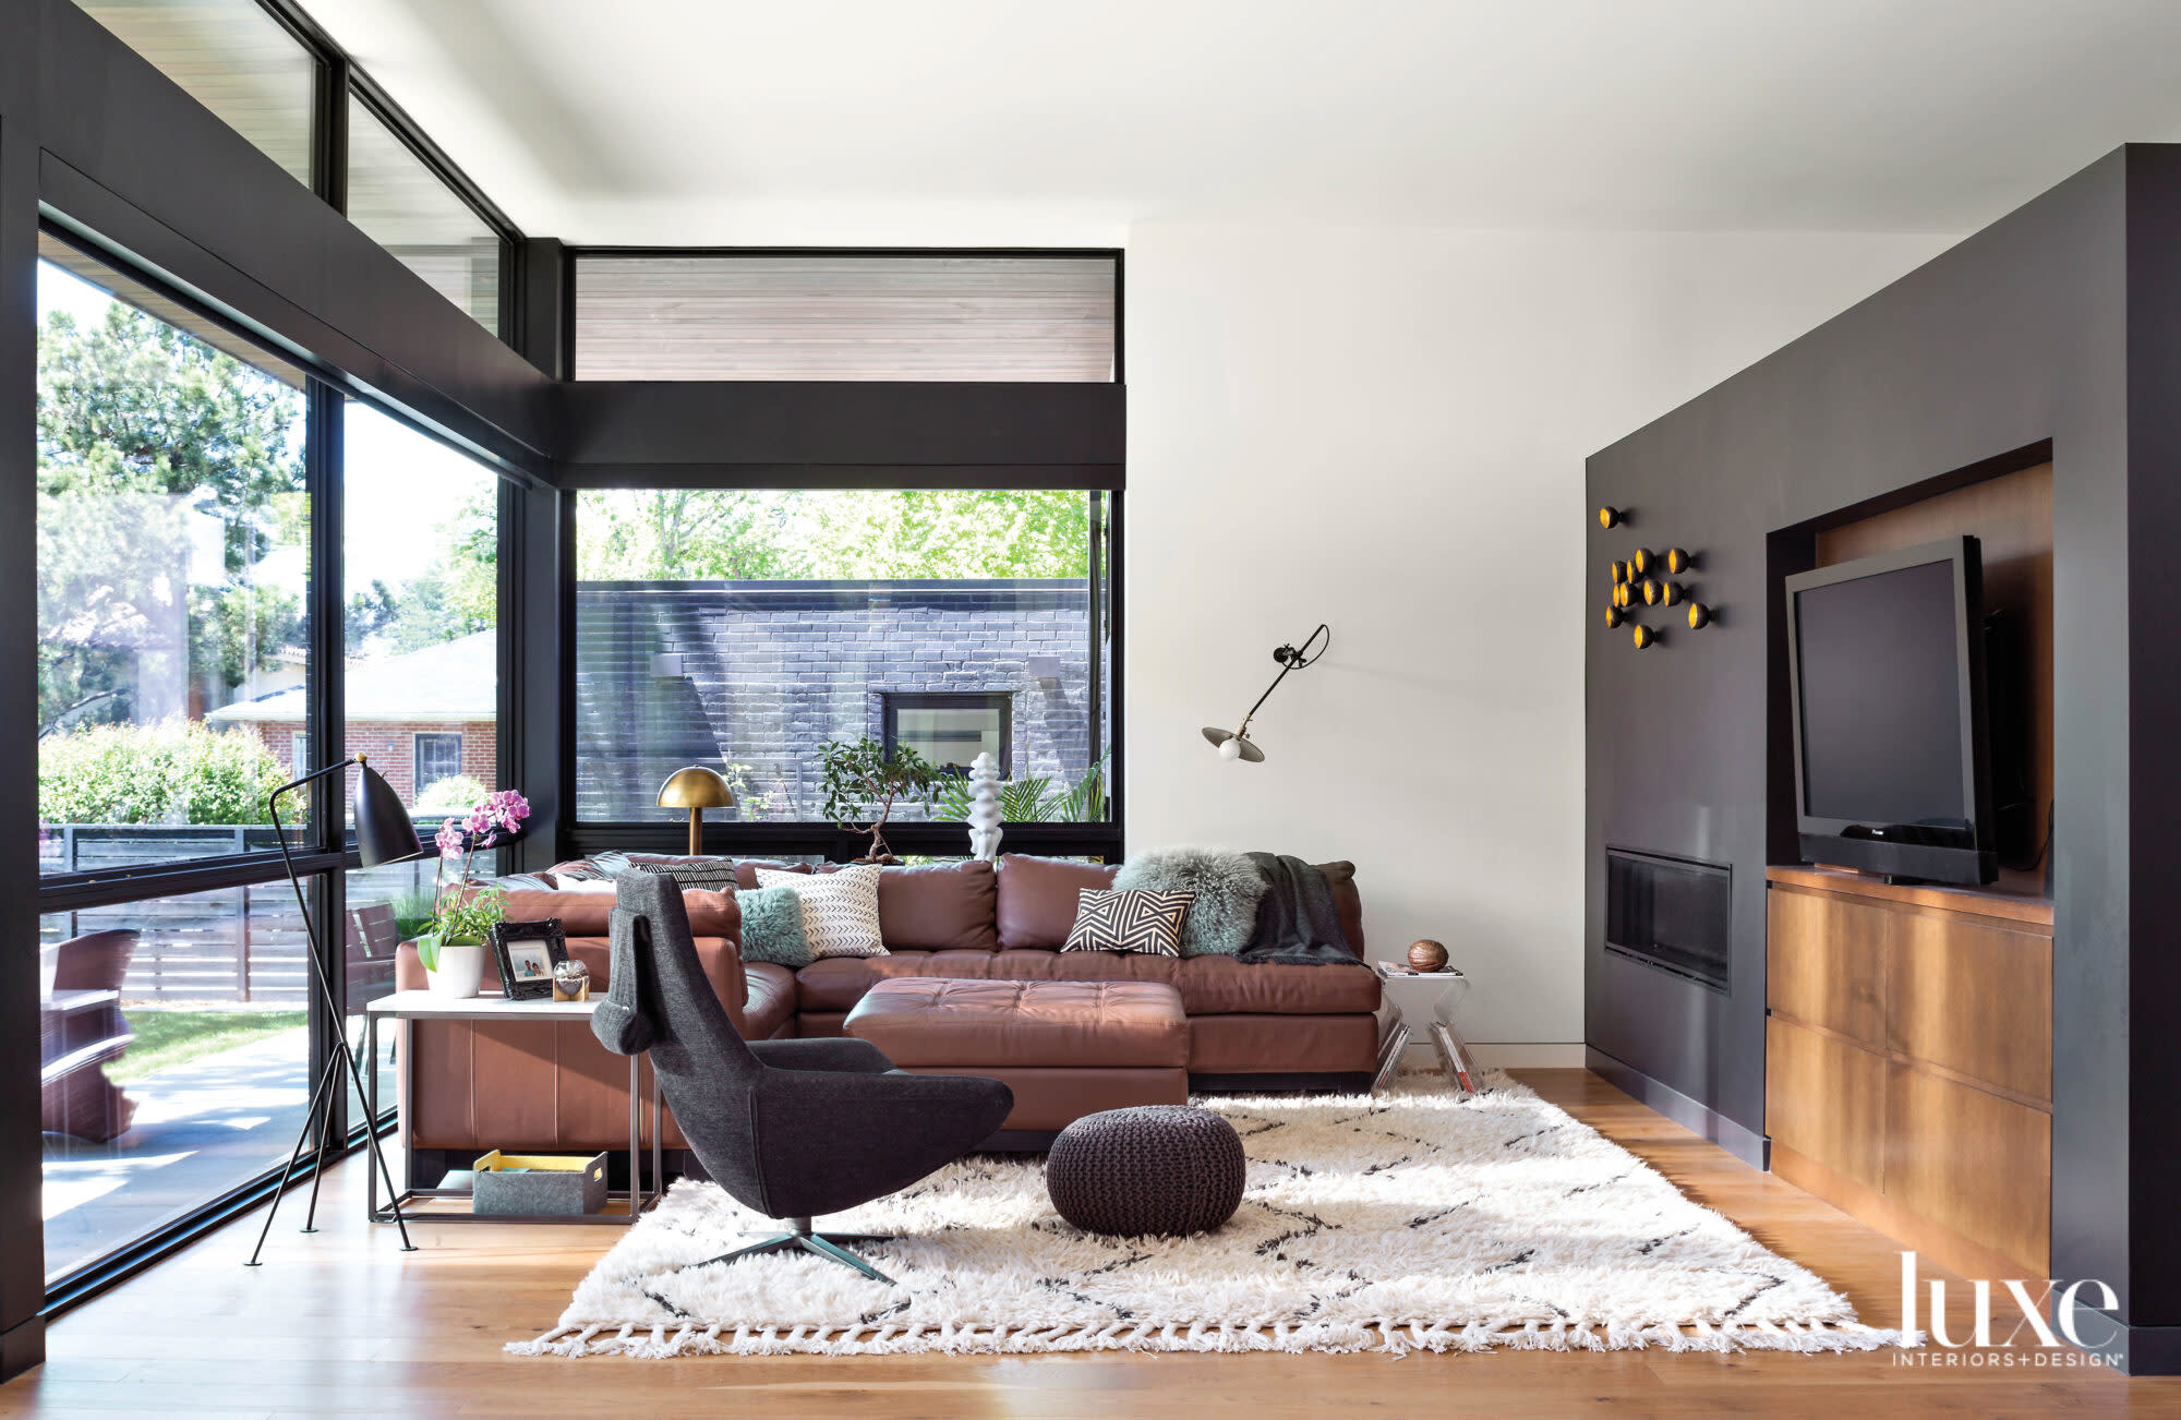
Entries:
MULTIPOLYGON (((275 846, 294 759, 236 711, 305 702, 303 377, 131 277, 39 264, 37 628, 46 1272, 273 1167, 308 1104, 286 881, 103 881, 275 846)), ((301 844, 310 801, 294 814, 301 844)))

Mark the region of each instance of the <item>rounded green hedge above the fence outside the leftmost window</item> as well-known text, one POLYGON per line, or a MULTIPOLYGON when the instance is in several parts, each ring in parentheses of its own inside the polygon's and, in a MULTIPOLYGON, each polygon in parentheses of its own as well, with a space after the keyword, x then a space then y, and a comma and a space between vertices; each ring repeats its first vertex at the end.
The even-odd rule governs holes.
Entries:
POLYGON ((257 731, 192 720, 87 724, 37 746, 46 822, 260 825, 288 779, 257 731))

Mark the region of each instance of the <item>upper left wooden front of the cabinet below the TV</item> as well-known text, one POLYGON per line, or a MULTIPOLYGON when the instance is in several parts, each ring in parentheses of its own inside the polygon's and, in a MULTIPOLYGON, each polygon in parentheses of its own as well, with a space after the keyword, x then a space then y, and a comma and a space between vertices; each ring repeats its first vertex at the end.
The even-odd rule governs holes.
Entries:
POLYGON ((1804 1025, 1882 1045, 1893 912, 1817 892, 1764 894, 1764 1003, 1804 1025))

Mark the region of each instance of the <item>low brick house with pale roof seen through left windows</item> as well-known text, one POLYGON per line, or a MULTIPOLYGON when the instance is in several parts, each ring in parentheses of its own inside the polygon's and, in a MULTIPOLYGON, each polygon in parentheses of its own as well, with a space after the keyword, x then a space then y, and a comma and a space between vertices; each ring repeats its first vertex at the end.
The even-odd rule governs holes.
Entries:
MULTIPOLYGON (((467 774, 499 787, 497 639, 491 630, 397 657, 351 661, 347 676, 347 750, 366 755, 401 803, 414 805, 419 766, 430 779, 467 774), (423 737, 423 742, 419 742, 423 737)), ((303 687, 240 700, 205 715, 212 724, 249 726, 284 761, 303 772, 303 687)))

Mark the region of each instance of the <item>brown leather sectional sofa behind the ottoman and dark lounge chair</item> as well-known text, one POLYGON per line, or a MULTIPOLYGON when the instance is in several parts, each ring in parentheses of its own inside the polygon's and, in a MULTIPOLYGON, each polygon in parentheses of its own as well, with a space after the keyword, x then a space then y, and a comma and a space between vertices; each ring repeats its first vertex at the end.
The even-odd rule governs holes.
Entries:
MULTIPOLYGON (((733 892, 683 894, 698 955, 746 1038, 838 1036, 842 1019, 883 977, 1003 982, 1160 982, 1189 1016, 1189 1078, 1200 1088, 1354 1084, 1376 1062, 1378 977, 1339 966, 1248 966, 1234 958, 1060 951, 1077 888, 1112 883, 1114 868, 1003 855, 992 864, 885 868, 879 931, 888 955, 824 958, 800 971, 744 962, 733 892)), ((755 866, 739 877, 755 888, 755 866)), ((1363 953, 1363 903, 1348 864, 1328 864, 1341 925, 1363 953)), ((561 918, 569 955, 606 984, 611 892, 510 892, 510 920, 561 918)), ((397 988, 425 986, 414 947, 401 947, 397 988)), ((499 984, 489 973, 486 992, 499 984)), ((471 1025, 417 1021, 401 1086, 403 1141, 430 1156, 480 1150, 613 1150, 628 1143, 628 1062, 585 1023, 471 1025)), ((648 1112, 646 1112, 648 1119, 648 1112)), ((663 1145, 683 1147, 665 1123, 663 1145)))

